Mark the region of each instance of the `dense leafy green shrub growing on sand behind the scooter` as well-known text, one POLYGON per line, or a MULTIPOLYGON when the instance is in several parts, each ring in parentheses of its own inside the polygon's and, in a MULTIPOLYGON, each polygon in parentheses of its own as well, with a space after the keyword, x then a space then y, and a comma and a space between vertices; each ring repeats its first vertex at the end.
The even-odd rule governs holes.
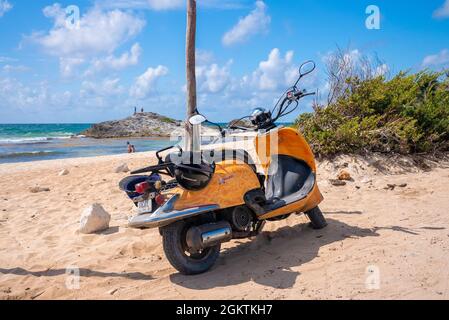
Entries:
POLYGON ((347 79, 344 93, 328 106, 299 116, 315 153, 365 151, 429 153, 449 150, 449 73, 429 70, 347 79))

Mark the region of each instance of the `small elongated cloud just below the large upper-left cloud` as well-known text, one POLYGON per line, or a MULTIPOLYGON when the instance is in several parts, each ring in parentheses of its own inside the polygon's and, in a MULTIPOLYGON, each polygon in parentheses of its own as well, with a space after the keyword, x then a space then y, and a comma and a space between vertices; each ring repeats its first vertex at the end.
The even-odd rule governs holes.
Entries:
POLYGON ((135 43, 129 52, 125 52, 120 57, 109 55, 104 58, 95 58, 85 75, 90 76, 103 70, 123 70, 129 66, 135 66, 139 63, 142 54, 142 48, 135 43))

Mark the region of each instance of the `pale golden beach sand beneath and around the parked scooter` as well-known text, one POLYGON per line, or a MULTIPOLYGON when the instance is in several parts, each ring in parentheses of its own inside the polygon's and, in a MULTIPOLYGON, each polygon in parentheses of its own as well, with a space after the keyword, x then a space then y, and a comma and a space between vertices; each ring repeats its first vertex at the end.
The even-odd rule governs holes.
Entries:
POLYGON ((134 208, 117 187, 127 174, 114 169, 146 166, 152 155, 0 165, 0 298, 449 298, 447 166, 385 173, 348 158, 354 181, 335 187, 328 179, 340 168, 322 162, 326 229, 298 215, 268 223, 255 239, 223 245, 210 272, 188 277, 165 259, 158 230, 127 228, 134 208), (58 176, 62 169, 69 175, 58 176), (50 191, 30 193, 36 185, 50 191), (79 234, 92 203, 112 215, 111 228, 79 234), (79 288, 70 267, 79 268, 79 288))

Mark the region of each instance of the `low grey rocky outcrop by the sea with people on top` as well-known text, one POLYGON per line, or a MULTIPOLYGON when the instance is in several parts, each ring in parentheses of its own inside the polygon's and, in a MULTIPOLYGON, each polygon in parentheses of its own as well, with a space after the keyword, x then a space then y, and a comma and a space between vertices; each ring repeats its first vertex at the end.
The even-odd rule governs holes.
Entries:
POLYGON ((179 131, 181 121, 153 112, 137 113, 129 118, 94 124, 81 135, 89 138, 170 137, 179 131))

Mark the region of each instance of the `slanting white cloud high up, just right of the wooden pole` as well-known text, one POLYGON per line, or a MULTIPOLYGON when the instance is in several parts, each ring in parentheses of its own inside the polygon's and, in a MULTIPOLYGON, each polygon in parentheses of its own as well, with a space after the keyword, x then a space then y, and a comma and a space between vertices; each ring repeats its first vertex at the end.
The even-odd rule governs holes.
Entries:
POLYGON ((223 36, 225 46, 247 41, 251 36, 266 32, 271 22, 267 15, 267 6, 263 1, 256 2, 256 8, 249 15, 241 18, 239 22, 223 36))

